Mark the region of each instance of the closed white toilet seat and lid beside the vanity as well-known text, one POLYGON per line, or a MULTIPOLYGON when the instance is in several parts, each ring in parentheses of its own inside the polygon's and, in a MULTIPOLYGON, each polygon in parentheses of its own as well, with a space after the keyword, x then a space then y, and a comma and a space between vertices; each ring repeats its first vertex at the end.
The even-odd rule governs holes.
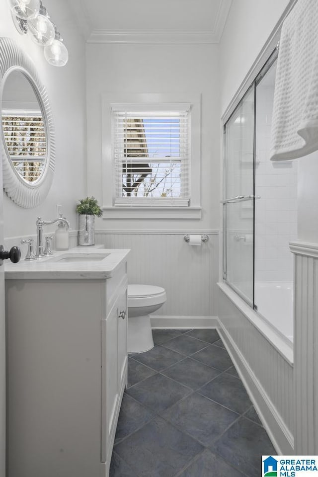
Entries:
POLYGON ((166 301, 165 290, 154 285, 128 285, 128 308, 159 305, 166 301))

